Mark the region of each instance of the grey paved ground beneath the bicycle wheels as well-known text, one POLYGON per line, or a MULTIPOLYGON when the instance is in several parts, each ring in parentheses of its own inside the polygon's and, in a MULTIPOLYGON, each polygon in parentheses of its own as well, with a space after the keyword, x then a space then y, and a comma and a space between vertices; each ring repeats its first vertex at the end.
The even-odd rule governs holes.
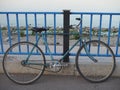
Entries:
POLYGON ((120 90, 120 78, 89 83, 77 76, 42 76, 31 85, 18 85, 0 75, 0 90, 120 90))

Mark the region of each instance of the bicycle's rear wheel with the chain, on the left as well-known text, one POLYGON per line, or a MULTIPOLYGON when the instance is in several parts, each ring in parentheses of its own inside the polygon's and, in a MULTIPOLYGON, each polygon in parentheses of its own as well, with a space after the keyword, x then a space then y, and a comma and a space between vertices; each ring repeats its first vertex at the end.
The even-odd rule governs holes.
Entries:
POLYGON ((33 43, 19 42, 12 45, 3 58, 3 70, 17 84, 30 84, 43 74, 45 56, 33 43))

